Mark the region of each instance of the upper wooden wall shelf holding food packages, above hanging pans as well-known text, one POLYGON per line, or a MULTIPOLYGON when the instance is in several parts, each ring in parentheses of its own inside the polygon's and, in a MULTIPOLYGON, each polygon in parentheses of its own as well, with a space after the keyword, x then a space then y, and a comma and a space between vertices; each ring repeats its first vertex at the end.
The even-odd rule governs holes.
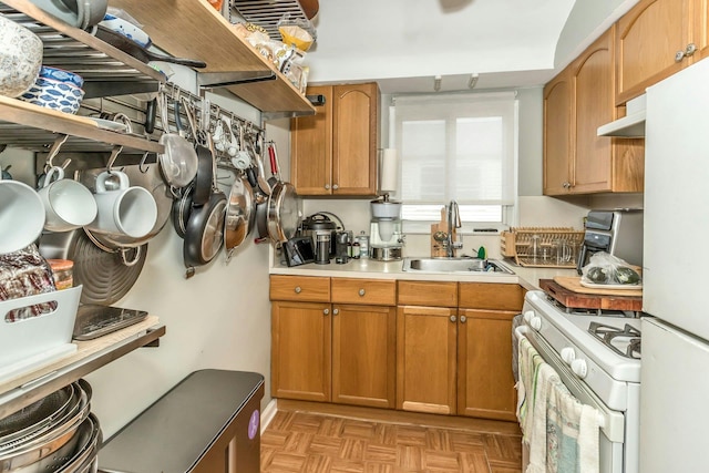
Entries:
POLYGON ((202 75, 218 75, 222 84, 245 81, 224 86, 267 116, 315 114, 305 95, 237 37, 234 27, 206 0, 112 0, 111 6, 141 22, 157 48, 174 56, 206 62, 207 66, 198 71, 202 75), (273 79, 249 82, 257 78, 273 79))

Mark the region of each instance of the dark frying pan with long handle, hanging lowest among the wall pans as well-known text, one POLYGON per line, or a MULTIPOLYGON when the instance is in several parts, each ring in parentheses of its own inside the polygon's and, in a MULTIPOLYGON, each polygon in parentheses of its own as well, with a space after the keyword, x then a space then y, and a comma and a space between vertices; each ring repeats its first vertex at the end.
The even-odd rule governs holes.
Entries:
MULTIPOLYGON (((209 136, 207 136, 208 138, 209 136)), ((212 163, 216 165, 214 161, 212 163)), ((212 175, 216 177, 216 172, 213 172, 212 175)), ((212 261, 222 249, 226 206, 226 195, 218 189, 216 178, 214 178, 209 202, 202 206, 193 205, 185 228, 183 259, 187 268, 186 277, 194 276, 195 267, 212 261)))

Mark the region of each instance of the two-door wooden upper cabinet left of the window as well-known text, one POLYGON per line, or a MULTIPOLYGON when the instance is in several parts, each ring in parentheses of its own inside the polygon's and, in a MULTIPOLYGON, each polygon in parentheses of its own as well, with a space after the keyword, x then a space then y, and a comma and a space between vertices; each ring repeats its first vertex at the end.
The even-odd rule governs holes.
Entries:
POLYGON ((377 83, 308 88, 325 105, 291 121, 291 181, 298 195, 377 195, 377 83))

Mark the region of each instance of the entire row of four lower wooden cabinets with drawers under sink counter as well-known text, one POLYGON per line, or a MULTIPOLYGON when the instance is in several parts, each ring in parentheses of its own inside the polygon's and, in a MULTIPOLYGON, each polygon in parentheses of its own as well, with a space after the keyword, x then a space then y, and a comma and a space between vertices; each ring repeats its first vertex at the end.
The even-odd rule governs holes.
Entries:
POLYGON ((316 279, 271 278, 274 398, 516 420, 520 286, 316 279))

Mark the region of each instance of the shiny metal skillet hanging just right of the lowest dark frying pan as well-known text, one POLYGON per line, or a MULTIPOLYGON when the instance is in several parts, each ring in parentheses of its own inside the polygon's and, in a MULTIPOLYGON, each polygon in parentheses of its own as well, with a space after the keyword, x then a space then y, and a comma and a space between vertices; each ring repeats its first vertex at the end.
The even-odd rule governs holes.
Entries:
POLYGON ((254 189, 246 178, 238 174, 232 184, 224 219, 224 246, 227 263, 232 259, 234 250, 244 243, 254 227, 255 203, 254 189))

